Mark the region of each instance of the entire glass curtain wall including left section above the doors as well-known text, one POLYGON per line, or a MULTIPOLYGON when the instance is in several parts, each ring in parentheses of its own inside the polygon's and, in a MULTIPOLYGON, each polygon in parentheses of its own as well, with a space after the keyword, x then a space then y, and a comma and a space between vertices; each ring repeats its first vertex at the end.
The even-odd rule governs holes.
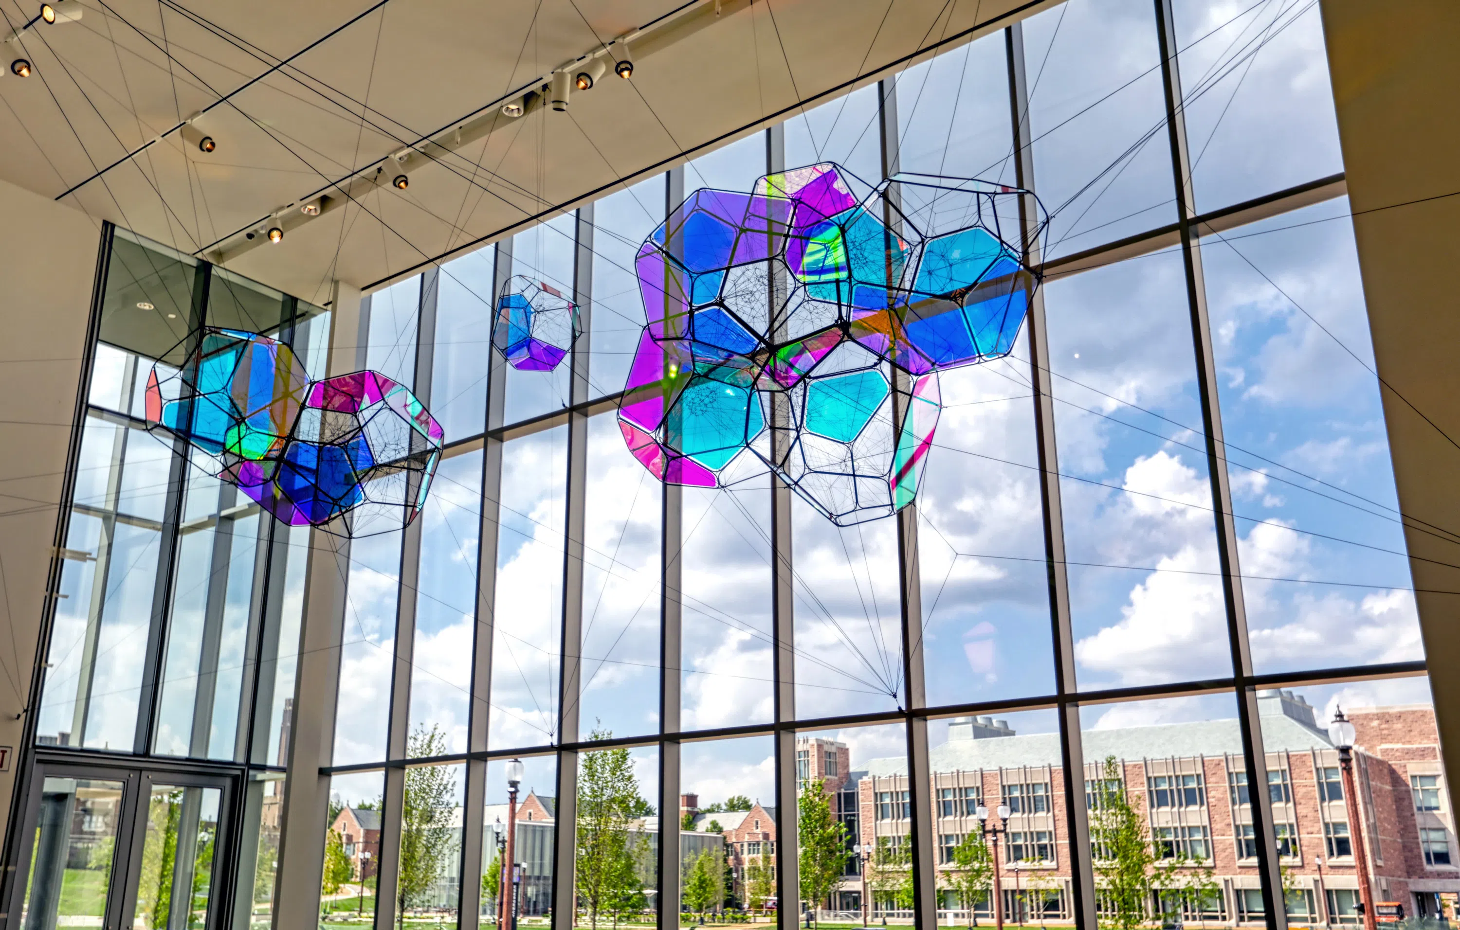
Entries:
MULTIPOLYGON (((1069 0, 374 295, 366 355, 448 444, 422 518, 350 553, 321 926, 1333 924, 1359 864, 1454 917, 1336 139, 1315 4, 1069 0), (1051 218, 915 508, 848 529, 769 477, 660 485, 613 403, 637 245, 815 161, 1051 218), (510 279, 580 307, 552 374, 485 349, 510 279)), ((150 291, 104 315, 39 740, 247 766, 266 877, 305 540, 159 448, 139 380, 204 311, 323 343, 117 244, 150 291), (156 347, 110 336, 142 304, 156 347)))

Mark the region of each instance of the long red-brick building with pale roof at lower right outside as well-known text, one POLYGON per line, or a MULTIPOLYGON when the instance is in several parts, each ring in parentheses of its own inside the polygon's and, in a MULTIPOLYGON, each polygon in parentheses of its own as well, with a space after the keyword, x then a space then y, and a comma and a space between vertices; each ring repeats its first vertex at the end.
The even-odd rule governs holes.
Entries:
MULTIPOLYGON (((1343 800, 1337 752, 1314 708, 1291 692, 1259 695, 1266 743, 1267 793, 1276 842, 1291 880, 1288 911, 1298 923, 1358 924, 1358 880, 1352 825, 1343 800)), ((1359 708, 1355 780, 1364 818, 1365 851, 1378 901, 1399 901, 1409 914, 1454 917, 1460 892, 1460 848, 1445 796, 1434 711, 1429 707, 1359 708)), ((1257 848, 1251 837, 1251 790, 1237 720, 1091 730, 1083 734, 1089 793, 1102 777, 1096 759, 1113 756, 1133 803, 1150 825, 1158 854, 1184 853, 1212 863, 1219 901, 1187 920, 1261 923, 1257 848)), ((815 740, 825 743, 825 740, 815 740)), ((809 748, 816 758, 831 746, 809 748)), ((838 755, 838 772, 845 762, 838 755)), ((1010 807, 1000 837, 999 869, 1004 911, 1012 917, 1067 920, 1070 914, 1069 832, 1064 777, 1056 734, 1013 733, 1002 721, 961 718, 949 740, 930 750, 936 812, 936 861, 946 870, 953 848, 980 823, 978 806, 1010 807)), ((911 828, 907 762, 873 759, 857 772, 863 847, 898 844, 911 828)), ((838 796, 847 784, 832 783, 838 796)), ((831 902, 861 907, 867 885, 848 869, 831 902)), ((872 898, 879 895, 872 892, 872 898)), ((873 911, 883 910, 873 901, 873 911)), ((945 894, 945 907, 956 907, 945 894)))

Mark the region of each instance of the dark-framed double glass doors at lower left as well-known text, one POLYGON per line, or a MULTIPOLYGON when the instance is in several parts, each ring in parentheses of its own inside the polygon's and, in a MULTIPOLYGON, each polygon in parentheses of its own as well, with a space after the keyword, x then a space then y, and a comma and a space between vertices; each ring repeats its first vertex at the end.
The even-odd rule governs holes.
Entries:
POLYGON ((15 930, 215 930, 231 778, 41 764, 15 930))

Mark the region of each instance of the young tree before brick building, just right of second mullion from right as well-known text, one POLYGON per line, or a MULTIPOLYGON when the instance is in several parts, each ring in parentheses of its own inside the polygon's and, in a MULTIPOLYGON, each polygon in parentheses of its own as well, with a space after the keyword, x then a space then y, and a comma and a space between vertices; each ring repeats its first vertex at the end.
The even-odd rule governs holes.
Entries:
POLYGON ((1115 756, 1105 758, 1092 796, 1091 845, 1107 911, 1101 927, 1136 930, 1146 920, 1155 856, 1146 821, 1126 794, 1124 765, 1115 756))

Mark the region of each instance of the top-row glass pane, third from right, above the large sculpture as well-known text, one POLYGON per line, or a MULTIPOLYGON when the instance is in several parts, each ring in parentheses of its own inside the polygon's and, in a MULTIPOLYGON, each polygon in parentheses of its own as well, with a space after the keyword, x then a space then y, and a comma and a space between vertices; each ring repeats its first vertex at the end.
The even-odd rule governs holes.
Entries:
POLYGON ((898 74, 898 166, 1013 184, 1013 118, 1003 32, 898 74))

